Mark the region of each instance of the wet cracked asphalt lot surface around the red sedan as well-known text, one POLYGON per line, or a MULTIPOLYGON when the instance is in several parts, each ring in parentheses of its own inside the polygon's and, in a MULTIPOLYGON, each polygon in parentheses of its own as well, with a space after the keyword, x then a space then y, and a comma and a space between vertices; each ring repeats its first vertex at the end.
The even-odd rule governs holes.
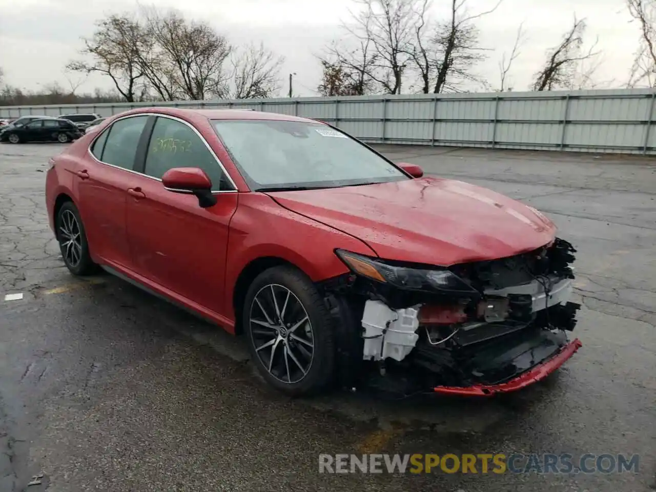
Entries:
POLYGON ((43 196, 62 148, 0 145, 0 492, 656 489, 655 159, 381 146, 550 216, 579 249, 583 348, 503 398, 289 400, 240 340, 115 277, 70 276, 43 196), (640 461, 622 474, 319 474, 320 453, 640 461))

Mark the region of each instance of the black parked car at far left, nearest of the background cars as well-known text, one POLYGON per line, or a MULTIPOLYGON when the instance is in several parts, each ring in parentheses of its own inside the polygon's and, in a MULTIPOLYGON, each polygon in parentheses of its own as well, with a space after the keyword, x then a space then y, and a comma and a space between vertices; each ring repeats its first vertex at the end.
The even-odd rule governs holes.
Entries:
POLYGON ((32 119, 21 125, 8 125, 0 129, 0 142, 22 144, 25 142, 72 142, 83 136, 75 123, 63 118, 45 117, 32 119))

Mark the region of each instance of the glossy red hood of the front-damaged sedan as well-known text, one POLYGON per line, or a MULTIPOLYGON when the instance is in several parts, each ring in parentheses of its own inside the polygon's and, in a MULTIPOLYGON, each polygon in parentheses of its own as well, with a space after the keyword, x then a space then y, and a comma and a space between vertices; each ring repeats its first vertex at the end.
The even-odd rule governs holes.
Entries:
POLYGON ((537 249, 554 224, 516 200, 434 177, 273 192, 279 205, 358 237, 381 258, 449 266, 537 249))

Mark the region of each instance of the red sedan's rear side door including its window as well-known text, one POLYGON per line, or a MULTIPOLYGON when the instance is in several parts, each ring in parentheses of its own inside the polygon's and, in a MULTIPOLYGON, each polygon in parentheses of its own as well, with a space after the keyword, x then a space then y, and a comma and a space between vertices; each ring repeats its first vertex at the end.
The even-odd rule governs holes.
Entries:
POLYGON ((150 115, 117 119, 91 145, 91 156, 76 174, 77 196, 89 249, 94 258, 131 270, 127 243, 127 188, 134 174, 137 148, 150 115))

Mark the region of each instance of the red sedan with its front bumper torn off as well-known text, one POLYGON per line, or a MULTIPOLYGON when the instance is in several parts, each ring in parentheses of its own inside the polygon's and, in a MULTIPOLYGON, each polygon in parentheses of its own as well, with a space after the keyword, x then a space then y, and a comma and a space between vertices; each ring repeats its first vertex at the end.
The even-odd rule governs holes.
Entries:
POLYGON ((72 274, 103 268, 244 335, 287 394, 490 395, 581 346, 567 337, 575 249, 548 218, 326 123, 139 109, 50 165, 72 274))

